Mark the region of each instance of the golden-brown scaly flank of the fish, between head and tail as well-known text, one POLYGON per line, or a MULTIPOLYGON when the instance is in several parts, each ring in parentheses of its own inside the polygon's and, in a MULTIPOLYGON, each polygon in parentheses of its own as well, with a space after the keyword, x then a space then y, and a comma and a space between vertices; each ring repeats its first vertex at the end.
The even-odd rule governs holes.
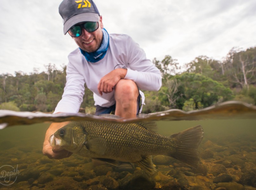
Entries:
POLYGON ((132 156, 134 161, 142 159, 141 155, 145 156, 146 153, 151 154, 154 152, 154 154, 163 154, 167 151, 174 150, 174 147, 170 146, 172 144, 168 145, 167 143, 168 137, 161 136, 137 124, 118 124, 115 125, 115 127, 106 127, 106 124, 100 124, 97 126, 97 130, 91 128, 88 122, 84 123, 83 126, 85 127, 85 130, 90 134, 89 139, 97 137, 105 138, 106 136, 103 136, 102 134, 109 133, 109 138, 105 138, 107 140, 107 148, 109 149, 102 156, 110 155, 112 152, 111 156, 115 155, 119 160, 127 161, 123 160, 124 156, 118 153, 122 149, 125 149, 127 152, 129 148, 132 147, 132 149, 140 150, 141 153, 140 155, 132 156), (113 149, 115 151, 113 151, 113 149))

